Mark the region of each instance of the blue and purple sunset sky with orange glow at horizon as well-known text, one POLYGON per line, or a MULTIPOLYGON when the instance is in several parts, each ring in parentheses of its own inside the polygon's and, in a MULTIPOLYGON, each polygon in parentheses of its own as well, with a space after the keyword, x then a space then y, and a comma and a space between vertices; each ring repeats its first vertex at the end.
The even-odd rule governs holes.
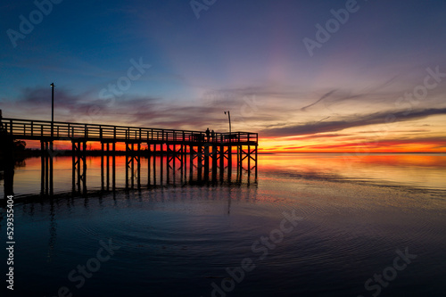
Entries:
POLYGON ((3 1, 5 118, 446 153, 443 0, 3 1))

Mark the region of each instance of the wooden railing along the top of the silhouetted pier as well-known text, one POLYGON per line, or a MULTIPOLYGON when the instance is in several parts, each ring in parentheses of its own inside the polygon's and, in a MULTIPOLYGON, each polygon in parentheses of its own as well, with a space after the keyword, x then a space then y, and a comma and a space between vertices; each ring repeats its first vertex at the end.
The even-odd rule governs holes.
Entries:
POLYGON ((251 132, 206 133, 204 131, 161 128, 136 128, 112 125, 70 123, 47 120, 22 120, 2 118, 3 129, 9 135, 21 139, 85 139, 103 142, 148 143, 219 143, 258 144, 258 134, 251 132))

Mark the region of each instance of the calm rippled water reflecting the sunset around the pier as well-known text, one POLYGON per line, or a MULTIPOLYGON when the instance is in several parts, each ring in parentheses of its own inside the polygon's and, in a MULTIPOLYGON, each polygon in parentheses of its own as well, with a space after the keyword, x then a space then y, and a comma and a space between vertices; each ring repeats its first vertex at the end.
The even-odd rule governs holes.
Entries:
MULTIPOLYGON (((14 177, 24 199, 8 295, 446 296, 446 154, 259 161, 257 184, 100 193, 92 157, 91 194, 80 197, 67 194, 71 159, 61 157, 50 200, 33 196, 40 159, 26 160, 14 177)), ((3 213, 3 242, 5 225, 3 213)))

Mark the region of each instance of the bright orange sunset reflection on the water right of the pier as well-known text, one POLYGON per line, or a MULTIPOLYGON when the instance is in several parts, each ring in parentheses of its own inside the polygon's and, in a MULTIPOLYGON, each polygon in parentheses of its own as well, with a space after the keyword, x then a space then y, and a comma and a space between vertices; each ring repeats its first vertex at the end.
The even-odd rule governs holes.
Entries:
POLYGON ((259 169, 307 177, 446 188, 446 154, 265 154, 260 155, 259 169))

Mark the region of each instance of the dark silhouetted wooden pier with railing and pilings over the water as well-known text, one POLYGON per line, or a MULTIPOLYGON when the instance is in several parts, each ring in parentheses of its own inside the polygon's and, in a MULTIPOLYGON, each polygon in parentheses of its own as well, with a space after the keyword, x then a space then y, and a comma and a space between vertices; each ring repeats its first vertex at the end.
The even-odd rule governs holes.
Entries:
POLYGON ((53 163, 57 155, 54 141, 71 143, 72 190, 82 194, 87 193, 87 142, 101 144, 103 190, 116 189, 117 169, 125 169, 126 189, 187 182, 241 183, 244 177, 250 183, 252 176, 257 182, 257 133, 206 133, 5 118, 1 123, 8 138, 40 141, 41 194, 45 195, 54 194, 53 163), (118 168, 116 163, 119 143, 126 147, 124 168, 118 168), (141 178, 143 161, 147 170, 145 180, 141 178), (232 180, 233 166, 235 180, 232 180))

